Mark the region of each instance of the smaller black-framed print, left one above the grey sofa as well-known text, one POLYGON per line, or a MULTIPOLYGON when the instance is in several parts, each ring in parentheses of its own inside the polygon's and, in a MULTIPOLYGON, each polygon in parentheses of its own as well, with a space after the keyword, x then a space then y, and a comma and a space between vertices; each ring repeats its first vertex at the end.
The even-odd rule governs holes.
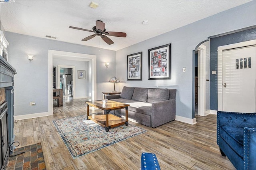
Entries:
POLYGON ((142 52, 127 55, 127 80, 142 80, 142 52))

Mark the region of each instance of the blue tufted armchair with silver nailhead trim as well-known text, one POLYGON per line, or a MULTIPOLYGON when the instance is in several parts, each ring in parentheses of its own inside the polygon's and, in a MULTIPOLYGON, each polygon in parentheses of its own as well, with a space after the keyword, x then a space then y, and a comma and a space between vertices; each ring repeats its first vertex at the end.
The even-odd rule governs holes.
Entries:
POLYGON ((218 111, 217 144, 236 169, 256 169, 256 113, 218 111))

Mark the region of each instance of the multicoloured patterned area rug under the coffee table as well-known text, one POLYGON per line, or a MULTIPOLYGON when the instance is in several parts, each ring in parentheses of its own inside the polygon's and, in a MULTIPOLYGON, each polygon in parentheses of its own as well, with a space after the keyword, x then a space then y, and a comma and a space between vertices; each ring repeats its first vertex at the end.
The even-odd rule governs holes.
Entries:
POLYGON ((104 127, 87 120, 85 115, 53 123, 73 159, 146 132, 133 125, 121 125, 106 132, 104 127))

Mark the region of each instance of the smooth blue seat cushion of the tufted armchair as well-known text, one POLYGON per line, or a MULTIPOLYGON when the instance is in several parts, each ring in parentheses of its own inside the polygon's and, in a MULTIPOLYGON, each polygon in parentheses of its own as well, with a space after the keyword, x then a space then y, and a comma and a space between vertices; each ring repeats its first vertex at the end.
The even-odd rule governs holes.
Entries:
POLYGON ((238 155, 244 156, 244 128, 222 126, 220 128, 220 136, 238 155))

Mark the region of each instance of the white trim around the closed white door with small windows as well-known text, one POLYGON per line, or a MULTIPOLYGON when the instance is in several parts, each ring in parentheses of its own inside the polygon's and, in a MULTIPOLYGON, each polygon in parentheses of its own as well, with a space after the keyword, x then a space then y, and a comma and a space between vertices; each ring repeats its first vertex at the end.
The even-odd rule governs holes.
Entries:
POLYGON ((240 43, 233 43, 228 45, 223 45, 218 47, 218 111, 223 111, 223 96, 222 96, 222 52, 226 49, 238 48, 238 47, 245 47, 249 45, 255 45, 256 40, 251 40, 247 42, 240 42, 240 43))

